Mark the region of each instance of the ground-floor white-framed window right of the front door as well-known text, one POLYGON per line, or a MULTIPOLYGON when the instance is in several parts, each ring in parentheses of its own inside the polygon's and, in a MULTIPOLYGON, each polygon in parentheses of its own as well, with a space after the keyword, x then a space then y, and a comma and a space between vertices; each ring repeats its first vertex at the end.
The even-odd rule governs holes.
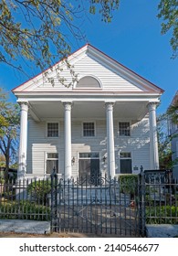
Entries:
POLYGON ((131 174, 131 152, 120 152, 120 174, 131 174))

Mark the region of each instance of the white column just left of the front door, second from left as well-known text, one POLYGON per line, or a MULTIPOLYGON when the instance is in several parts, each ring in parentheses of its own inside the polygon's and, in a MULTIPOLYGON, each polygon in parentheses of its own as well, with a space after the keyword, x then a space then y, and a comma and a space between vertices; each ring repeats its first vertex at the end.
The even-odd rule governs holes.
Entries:
POLYGON ((64 102, 64 170, 65 178, 71 177, 71 102, 64 102))

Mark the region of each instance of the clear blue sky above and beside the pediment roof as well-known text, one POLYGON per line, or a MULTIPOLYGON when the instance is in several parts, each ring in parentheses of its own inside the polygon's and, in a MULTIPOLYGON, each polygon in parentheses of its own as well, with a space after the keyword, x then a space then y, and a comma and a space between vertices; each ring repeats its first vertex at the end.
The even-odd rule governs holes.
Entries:
MULTIPOLYGON (((161 87, 161 105, 157 112, 165 112, 178 90, 178 58, 171 59, 171 33, 161 35, 161 20, 157 18, 157 0, 121 0, 112 22, 105 24, 100 16, 85 17, 79 26, 87 40, 72 40, 72 51, 90 43, 111 58, 161 87)), ((34 69, 37 74, 38 70, 34 69)), ((27 78, 16 70, 0 64, 0 86, 10 91, 27 78)), ((11 95, 11 101, 15 101, 11 95)))

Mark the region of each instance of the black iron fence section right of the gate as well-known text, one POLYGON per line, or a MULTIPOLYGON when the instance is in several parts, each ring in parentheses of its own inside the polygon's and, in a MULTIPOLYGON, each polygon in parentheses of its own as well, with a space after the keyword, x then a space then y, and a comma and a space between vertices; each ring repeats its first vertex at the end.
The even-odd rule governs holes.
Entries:
POLYGON ((147 224, 178 224, 178 184, 169 172, 143 174, 145 221, 147 224))

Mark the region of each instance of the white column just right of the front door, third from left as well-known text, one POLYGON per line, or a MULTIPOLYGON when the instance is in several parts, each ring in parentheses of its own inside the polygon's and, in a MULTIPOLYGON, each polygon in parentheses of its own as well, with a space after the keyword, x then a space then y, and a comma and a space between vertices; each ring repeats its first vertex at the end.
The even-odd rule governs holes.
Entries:
POLYGON ((108 172, 111 178, 115 176, 115 151, 114 151, 114 127, 113 127, 113 102, 106 103, 107 114, 107 155, 108 172))

